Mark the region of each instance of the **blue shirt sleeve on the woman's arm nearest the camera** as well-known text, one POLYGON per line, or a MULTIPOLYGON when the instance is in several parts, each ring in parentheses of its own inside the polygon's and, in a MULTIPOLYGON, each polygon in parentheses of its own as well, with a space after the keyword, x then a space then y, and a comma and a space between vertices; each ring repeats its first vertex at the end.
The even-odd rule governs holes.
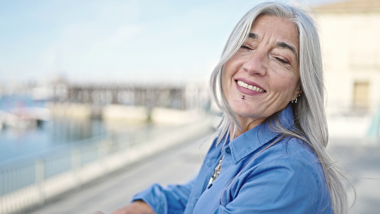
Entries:
MULTIPOLYGON (((301 162, 277 159, 239 176, 224 192, 214 214, 315 213, 318 184, 315 174, 301 162), (224 198, 223 198, 224 197, 224 198)), ((325 212, 323 212, 325 213, 325 212)))

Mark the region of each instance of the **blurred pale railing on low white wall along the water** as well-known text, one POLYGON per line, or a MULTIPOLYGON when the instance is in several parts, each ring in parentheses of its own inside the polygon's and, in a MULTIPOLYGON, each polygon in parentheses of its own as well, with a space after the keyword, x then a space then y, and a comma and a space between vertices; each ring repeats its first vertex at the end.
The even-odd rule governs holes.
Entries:
POLYGON ((33 160, 0 164, 0 214, 41 206, 109 172, 211 131, 211 120, 206 118, 166 131, 93 138, 92 142, 54 149, 33 160))

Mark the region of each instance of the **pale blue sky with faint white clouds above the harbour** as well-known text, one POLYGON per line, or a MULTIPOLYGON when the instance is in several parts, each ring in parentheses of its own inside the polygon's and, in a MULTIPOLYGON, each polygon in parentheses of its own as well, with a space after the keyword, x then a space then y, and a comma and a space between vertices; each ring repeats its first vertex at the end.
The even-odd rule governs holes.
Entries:
POLYGON ((205 80, 256 2, 0 0, 0 83, 205 80))

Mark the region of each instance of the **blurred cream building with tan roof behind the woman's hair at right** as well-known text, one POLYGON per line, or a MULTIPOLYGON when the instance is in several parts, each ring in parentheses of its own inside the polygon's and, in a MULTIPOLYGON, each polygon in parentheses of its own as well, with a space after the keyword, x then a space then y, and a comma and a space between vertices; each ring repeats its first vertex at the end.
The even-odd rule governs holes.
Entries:
POLYGON ((380 105, 380 0, 315 8, 328 115, 372 114, 380 105))

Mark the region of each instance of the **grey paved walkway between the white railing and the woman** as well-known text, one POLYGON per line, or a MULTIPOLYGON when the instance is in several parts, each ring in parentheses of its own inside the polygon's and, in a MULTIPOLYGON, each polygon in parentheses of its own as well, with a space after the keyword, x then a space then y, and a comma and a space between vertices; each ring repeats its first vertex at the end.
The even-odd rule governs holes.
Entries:
POLYGON ((210 137, 175 146, 31 213, 92 214, 99 210, 109 214, 127 205, 135 193, 154 182, 184 183, 198 172, 211 145, 210 137))

